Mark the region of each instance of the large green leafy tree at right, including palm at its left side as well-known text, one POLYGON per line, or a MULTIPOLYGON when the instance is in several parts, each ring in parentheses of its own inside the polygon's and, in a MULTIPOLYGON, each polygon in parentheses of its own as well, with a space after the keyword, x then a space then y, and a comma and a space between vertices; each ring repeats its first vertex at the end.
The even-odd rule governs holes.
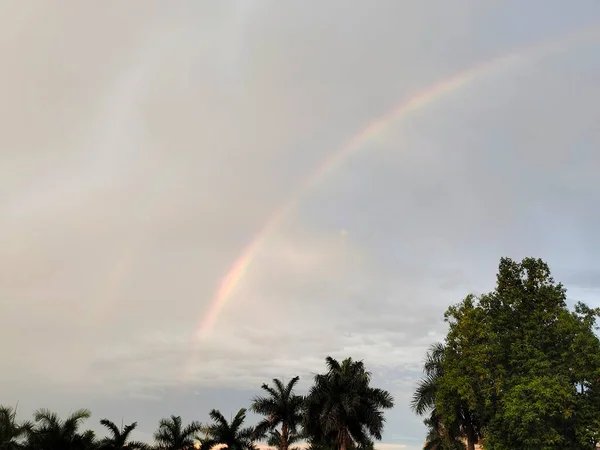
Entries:
POLYGON ((599 314, 570 310, 542 260, 501 259, 495 289, 450 307, 446 338, 426 355, 412 401, 425 448, 596 448, 599 314))

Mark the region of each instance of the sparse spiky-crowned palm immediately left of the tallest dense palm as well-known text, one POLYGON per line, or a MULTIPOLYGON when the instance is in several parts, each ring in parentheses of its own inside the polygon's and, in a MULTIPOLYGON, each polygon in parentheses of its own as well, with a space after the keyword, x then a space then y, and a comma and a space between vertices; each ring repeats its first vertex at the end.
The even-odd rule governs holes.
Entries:
POLYGON ((270 442, 278 450, 288 450, 290 444, 296 442, 298 426, 302 422, 303 397, 294 394, 294 386, 300 377, 292 378, 287 384, 277 378, 273 379, 273 387, 268 384, 261 386, 268 395, 256 396, 250 407, 252 412, 261 414, 265 418, 258 423, 255 437, 263 438, 268 432, 270 442), (281 431, 276 428, 281 425, 281 431), (275 444, 275 438, 279 442, 275 444))

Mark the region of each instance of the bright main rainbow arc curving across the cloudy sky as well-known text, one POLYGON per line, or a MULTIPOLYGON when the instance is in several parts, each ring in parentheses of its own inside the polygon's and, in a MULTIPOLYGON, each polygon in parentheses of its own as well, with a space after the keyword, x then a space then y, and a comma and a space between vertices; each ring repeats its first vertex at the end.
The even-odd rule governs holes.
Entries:
MULTIPOLYGON (((365 148, 365 143, 381 135, 391 124, 406 119, 411 114, 422 108, 441 100, 444 96, 456 92, 477 79, 486 75, 507 69, 516 63, 522 63, 530 60, 533 56, 545 56, 549 53, 555 53, 568 50, 573 45, 581 43, 583 40, 596 38, 598 35, 598 26, 594 24, 577 30, 575 33, 558 39, 545 40, 536 43, 519 51, 506 54, 489 60, 483 64, 477 65, 469 70, 460 72, 450 78, 417 93, 406 101, 401 102, 387 113, 376 118, 355 134, 343 147, 328 156, 314 170, 293 195, 278 210, 272 214, 266 221, 266 224, 259 230, 255 238, 243 250, 240 256, 235 260, 229 272, 222 279, 215 296, 209 304, 208 311, 194 330, 194 340, 192 343, 192 359, 195 356, 197 346, 203 341, 219 318, 227 302, 232 298, 233 293, 244 279, 248 268, 256 257, 257 252, 262 247, 265 239, 282 223, 289 213, 301 202, 302 198, 318 183, 323 180, 330 172, 335 170, 341 162, 345 161, 354 153, 365 148)), ((189 369, 193 360, 188 362, 189 369)), ((189 370, 185 371, 186 374, 189 370)))

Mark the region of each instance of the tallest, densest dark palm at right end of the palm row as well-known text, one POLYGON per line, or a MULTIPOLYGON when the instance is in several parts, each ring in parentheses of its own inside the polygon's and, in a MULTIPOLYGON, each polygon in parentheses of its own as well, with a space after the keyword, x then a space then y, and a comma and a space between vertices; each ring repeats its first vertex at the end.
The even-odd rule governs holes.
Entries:
POLYGON ((370 386, 371 373, 362 361, 341 364, 328 356, 327 373, 317 374, 305 408, 305 429, 313 446, 334 444, 339 450, 381 440, 384 409, 394 406, 391 394, 370 386))

